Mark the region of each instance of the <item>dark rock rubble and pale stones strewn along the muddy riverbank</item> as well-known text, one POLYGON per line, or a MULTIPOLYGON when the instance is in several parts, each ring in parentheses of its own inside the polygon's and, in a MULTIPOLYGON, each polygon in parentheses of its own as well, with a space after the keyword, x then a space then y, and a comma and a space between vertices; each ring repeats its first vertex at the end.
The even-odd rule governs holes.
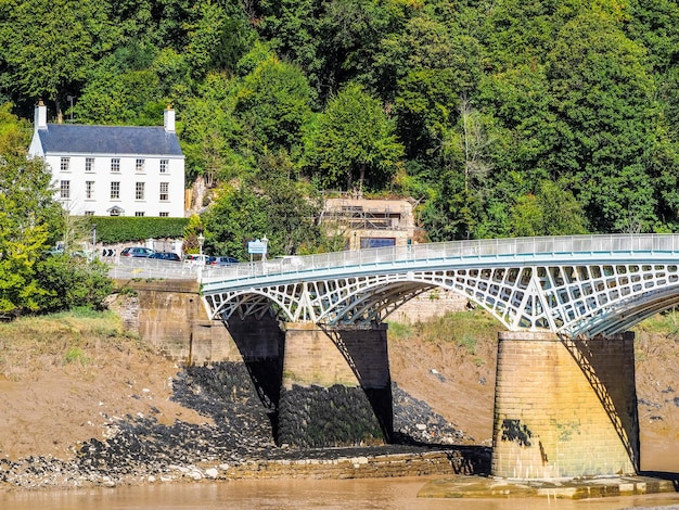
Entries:
POLYGON ((244 365, 192 367, 174 381, 174 399, 205 416, 205 423, 176 421, 167 425, 154 416, 112 418, 107 438, 74 446, 72 460, 0 459, 0 483, 34 488, 218 479, 230 466, 253 461, 412 452, 465 438, 425 403, 396 385, 393 395, 396 444, 291 449, 274 444, 274 409, 262 405, 244 365))

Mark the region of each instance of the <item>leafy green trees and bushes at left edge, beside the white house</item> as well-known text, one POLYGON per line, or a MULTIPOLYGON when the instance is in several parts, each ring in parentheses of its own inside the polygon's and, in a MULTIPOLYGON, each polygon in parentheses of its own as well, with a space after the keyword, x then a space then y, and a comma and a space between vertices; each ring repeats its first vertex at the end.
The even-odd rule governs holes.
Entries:
POLYGON ((64 231, 63 211, 52 200, 51 174, 27 160, 24 125, 0 109, 0 317, 101 308, 111 293, 107 268, 69 255, 44 257, 64 231))

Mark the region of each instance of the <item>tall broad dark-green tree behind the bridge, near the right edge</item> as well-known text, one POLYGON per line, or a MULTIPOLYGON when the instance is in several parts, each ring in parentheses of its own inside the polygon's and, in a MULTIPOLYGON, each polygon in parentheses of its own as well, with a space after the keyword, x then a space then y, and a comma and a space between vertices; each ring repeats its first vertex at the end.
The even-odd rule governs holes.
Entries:
POLYGON ((658 109, 644 49, 615 17, 588 12, 564 26, 548 62, 556 136, 543 166, 571 182, 594 231, 651 231, 658 109))

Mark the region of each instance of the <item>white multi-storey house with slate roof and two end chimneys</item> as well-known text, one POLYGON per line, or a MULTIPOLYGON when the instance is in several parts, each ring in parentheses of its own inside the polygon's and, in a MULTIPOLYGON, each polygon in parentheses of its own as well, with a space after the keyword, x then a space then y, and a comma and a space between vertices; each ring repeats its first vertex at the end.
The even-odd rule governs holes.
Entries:
POLYGON ((30 156, 43 157, 71 215, 184 216, 184 155, 175 111, 164 127, 48 124, 36 107, 30 156))

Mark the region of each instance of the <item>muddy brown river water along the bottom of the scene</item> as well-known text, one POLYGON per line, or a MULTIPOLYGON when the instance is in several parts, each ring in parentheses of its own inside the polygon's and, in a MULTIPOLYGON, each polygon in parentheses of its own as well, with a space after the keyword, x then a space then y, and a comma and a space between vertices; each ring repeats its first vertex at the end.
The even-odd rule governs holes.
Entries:
POLYGON ((106 489, 0 493, 2 510, 203 509, 407 509, 407 510, 613 510, 679 509, 679 493, 569 500, 424 499, 418 492, 435 477, 381 480, 247 480, 106 489))

